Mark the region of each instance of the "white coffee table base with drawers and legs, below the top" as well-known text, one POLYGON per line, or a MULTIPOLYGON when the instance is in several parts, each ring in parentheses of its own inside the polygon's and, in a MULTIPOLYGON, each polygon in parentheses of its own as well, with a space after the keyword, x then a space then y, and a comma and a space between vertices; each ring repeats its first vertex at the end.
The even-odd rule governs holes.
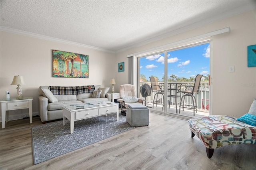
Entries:
POLYGON ((118 103, 112 105, 104 105, 91 107, 86 109, 69 110, 63 107, 63 126, 66 124, 66 119, 70 121, 70 133, 74 132, 74 122, 90 117, 97 117, 107 115, 110 113, 116 113, 116 120, 119 121, 118 103))

